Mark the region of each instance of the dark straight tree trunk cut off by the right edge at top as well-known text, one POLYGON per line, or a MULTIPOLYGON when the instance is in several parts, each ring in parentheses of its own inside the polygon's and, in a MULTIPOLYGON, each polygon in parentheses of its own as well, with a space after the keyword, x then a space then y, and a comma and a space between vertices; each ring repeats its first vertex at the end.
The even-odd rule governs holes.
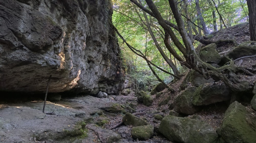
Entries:
POLYGON ((256 41, 256 1, 247 0, 249 10, 249 30, 251 41, 256 41))

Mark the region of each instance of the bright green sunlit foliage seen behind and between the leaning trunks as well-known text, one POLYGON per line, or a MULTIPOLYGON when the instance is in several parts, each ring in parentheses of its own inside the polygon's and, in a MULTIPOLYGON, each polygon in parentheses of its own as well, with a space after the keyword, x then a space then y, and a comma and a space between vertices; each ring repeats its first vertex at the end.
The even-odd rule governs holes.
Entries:
MULTIPOLYGON (((164 19, 176 24, 176 21, 170 10, 168 1, 160 0, 154 1, 154 3, 164 19)), ((197 24, 198 16, 196 13, 195 1, 187 1, 187 3, 188 18, 192 22, 197 24)), ((212 3, 212 0, 199 1, 199 3, 208 30, 210 32, 214 31, 214 20, 216 20, 219 30, 219 14, 217 13, 216 8, 212 3), (212 11, 215 11, 216 19, 212 18, 212 11)), ((246 22, 248 20, 248 8, 245 0, 215 0, 215 3, 227 26, 233 26, 238 23, 246 22)), ((147 32, 142 10, 134 4, 132 4, 132 2, 130 2, 129 0, 113 0, 113 5, 113 23, 120 32, 120 34, 124 37, 124 39, 131 46, 135 47, 137 50, 140 50, 144 55, 146 55, 147 59, 150 60, 152 63, 156 64, 157 66, 163 68, 166 71, 172 72, 172 69, 164 61, 162 55, 157 50, 155 43, 150 37, 150 34, 147 32)), ((146 2, 144 0, 142 0, 142 5, 148 9, 146 2)), ((184 3, 179 3, 178 7, 180 9, 180 12, 183 15, 185 15, 184 3)), ((166 49, 164 45, 163 28, 158 24, 158 21, 154 17, 147 15, 147 18, 151 24, 151 28, 160 47, 163 49, 168 58, 176 64, 177 69, 181 73, 184 72, 186 69, 184 69, 179 64, 179 62, 175 60, 173 56, 170 55, 169 51, 166 49)), ((182 18, 185 22, 185 28, 188 28, 186 24, 186 18, 182 18)), ((194 24, 192 25, 194 26, 194 24)), ((195 29, 198 31, 197 27, 195 27, 195 29)), ((183 43, 181 37, 179 36, 179 33, 176 30, 174 30, 174 32, 177 35, 177 38, 180 40, 180 42, 183 43)), ((195 31, 193 31, 193 34, 195 35, 195 31)), ((183 54, 176 48, 172 41, 170 41, 170 44, 176 50, 176 52, 183 58, 183 54)), ((147 83, 152 83, 153 81, 157 81, 157 79, 154 78, 154 75, 151 74, 151 70, 150 68, 148 68, 147 63, 145 62, 144 59, 140 58, 135 53, 133 53, 120 39, 119 45, 121 47, 122 52, 121 56, 123 59, 123 68, 125 69, 126 73, 132 74, 132 77, 134 77, 137 80, 138 89, 148 90, 146 89, 148 88, 147 83)), ((194 42, 195 47, 197 47, 198 45, 199 42, 194 42)), ((166 83, 169 83, 173 80, 173 77, 170 77, 170 75, 163 73, 162 71, 159 71, 155 67, 153 68, 158 74, 158 76, 166 83)))

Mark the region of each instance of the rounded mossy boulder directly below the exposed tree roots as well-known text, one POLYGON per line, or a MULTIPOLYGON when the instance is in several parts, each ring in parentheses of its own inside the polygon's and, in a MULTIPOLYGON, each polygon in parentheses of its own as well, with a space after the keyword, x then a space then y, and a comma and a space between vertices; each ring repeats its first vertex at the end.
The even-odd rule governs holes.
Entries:
POLYGON ((230 90, 223 82, 205 83, 197 88, 192 103, 196 106, 209 105, 230 100, 230 90))

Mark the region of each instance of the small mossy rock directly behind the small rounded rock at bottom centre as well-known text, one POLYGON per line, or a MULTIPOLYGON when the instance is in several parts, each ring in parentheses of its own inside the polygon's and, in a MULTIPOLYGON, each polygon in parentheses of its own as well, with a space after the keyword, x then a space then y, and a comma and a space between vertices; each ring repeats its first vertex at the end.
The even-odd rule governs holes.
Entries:
POLYGON ((134 127, 147 125, 146 121, 132 115, 131 113, 126 113, 125 114, 125 116, 123 117, 123 123, 126 126, 127 125, 132 125, 134 127))

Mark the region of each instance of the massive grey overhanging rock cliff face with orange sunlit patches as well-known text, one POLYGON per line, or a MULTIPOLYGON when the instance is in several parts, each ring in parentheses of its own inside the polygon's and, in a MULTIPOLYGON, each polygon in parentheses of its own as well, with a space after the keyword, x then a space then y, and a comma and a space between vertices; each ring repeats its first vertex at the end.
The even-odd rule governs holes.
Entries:
POLYGON ((0 91, 115 94, 120 50, 110 0, 1 0, 0 91))

